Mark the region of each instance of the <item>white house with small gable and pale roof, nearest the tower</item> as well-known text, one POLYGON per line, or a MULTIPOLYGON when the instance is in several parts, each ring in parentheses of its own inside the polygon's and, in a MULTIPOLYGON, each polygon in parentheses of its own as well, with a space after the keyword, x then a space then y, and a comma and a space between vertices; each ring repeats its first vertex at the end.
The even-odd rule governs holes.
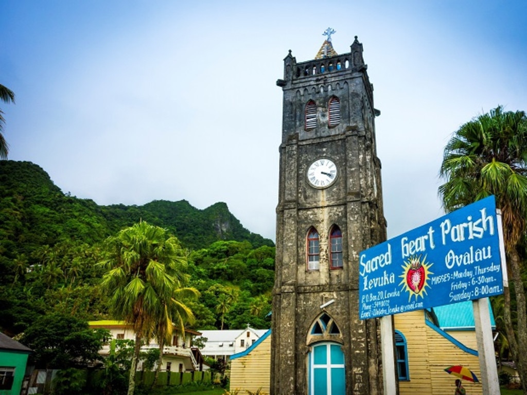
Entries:
POLYGON ((207 338, 201 354, 214 359, 225 359, 228 362, 231 355, 245 351, 267 331, 267 329, 253 329, 249 325, 246 329, 200 331, 201 336, 207 338))

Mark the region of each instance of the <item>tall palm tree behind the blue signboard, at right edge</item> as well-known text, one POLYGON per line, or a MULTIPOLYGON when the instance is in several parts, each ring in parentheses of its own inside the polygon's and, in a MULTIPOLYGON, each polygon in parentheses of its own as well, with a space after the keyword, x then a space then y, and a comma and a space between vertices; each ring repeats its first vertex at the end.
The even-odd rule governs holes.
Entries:
POLYGON ((447 211, 494 195, 501 209, 508 272, 514 285, 517 331, 511 318, 511 292, 504 288, 507 339, 527 395, 527 305, 521 277, 522 241, 527 231, 527 117, 501 106, 454 132, 441 165, 439 188, 447 211))

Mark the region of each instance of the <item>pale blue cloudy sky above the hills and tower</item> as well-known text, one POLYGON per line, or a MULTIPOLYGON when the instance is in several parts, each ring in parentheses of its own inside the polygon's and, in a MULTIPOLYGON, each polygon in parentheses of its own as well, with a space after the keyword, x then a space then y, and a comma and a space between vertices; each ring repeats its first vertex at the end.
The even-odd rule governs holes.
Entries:
POLYGON ((525 1, 0 3, 9 159, 99 204, 218 201, 275 238, 288 50, 322 33, 364 46, 374 84, 388 235, 443 213, 448 137, 498 104, 527 110, 525 1))

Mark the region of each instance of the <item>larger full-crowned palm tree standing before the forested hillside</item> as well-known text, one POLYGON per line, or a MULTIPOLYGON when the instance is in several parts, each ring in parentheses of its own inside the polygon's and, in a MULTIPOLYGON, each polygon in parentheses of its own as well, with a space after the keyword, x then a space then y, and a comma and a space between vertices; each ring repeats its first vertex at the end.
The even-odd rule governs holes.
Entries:
POLYGON ((123 229, 108 239, 108 246, 109 259, 102 262, 108 272, 101 287, 110 295, 113 317, 132 324, 135 332, 128 386, 132 395, 142 339, 157 333, 162 312, 173 312, 178 305, 173 297, 180 284, 180 246, 164 229, 146 222, 123 229))

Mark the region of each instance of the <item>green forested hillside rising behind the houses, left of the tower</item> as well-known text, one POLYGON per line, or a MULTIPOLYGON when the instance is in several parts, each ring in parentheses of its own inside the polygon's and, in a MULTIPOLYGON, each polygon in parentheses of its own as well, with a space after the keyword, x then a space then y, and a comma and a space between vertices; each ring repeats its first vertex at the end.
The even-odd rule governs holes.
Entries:
POLYGON ((226 203, 198 210, 187 201, 101 206, 64 194, 30 162, 0 161, 0 330, 24 331, 38 316, 66 311, 108 317, 99 292, 104 241, 146 221, 188 250, 195 329, 265 328, 274 244, 243 228, 226 203))

